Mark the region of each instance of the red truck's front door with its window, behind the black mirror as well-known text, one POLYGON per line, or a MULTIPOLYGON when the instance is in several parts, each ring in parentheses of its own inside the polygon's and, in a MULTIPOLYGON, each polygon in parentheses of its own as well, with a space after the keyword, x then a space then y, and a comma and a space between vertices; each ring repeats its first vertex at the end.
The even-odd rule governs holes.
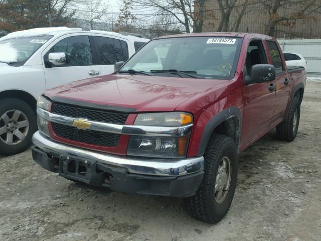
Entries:
MULTIPOLYGON (((261 39, 249 44, 244 76, 250 75, 255 64, 267 64, 266 51, 261 39)), ((241 148, 246 147, 268 131, 275 104, 275 80, 253 83, 242 87, 244 113, 242 120, 241 148)))

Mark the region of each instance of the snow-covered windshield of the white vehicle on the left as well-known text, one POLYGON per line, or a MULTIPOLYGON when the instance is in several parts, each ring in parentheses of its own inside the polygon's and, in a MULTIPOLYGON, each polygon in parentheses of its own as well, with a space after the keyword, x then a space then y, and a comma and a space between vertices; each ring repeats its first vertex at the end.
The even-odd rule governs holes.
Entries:
POLYGON ((0 62, 12 66, 21 66, 49 39, 52 35, 37 37, 0 39, 0 62))

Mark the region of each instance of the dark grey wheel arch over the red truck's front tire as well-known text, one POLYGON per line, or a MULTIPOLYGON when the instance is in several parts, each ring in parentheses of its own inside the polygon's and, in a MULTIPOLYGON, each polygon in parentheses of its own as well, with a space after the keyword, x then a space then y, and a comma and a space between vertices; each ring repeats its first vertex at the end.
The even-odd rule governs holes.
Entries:
POLYGON ((241 136, 241 111, 236 106, 231 106, 213 116, 206 124, 198 148, 198 156, 205 153, 206 146, 214 134, 222 134, 231 137, 237 149, 241 136))

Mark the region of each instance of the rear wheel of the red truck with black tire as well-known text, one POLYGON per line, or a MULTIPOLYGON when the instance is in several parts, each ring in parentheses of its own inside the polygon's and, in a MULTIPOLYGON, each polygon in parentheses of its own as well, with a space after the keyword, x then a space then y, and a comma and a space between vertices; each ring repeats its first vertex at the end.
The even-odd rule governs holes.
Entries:
POLYGON ((276 126, 276 136, 279 140, 291 142, 297 134, 300 122, 300 98, 295 95, 288 115, 280 124, 276 126), (295 125, 295 126, 294 126, 295 125))

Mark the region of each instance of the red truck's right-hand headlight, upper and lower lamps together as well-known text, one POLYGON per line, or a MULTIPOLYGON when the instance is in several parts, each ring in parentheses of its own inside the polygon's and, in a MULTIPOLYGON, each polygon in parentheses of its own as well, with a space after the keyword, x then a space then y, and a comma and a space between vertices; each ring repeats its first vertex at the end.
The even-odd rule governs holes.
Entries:
MULTIPOLYGON (((138 114, 134 125, 185 128, 193 116, 183 112, 138 114)), ((190 134, 185 136, 130 136, 127 155, 155 158, 184 158, 190 134)))

